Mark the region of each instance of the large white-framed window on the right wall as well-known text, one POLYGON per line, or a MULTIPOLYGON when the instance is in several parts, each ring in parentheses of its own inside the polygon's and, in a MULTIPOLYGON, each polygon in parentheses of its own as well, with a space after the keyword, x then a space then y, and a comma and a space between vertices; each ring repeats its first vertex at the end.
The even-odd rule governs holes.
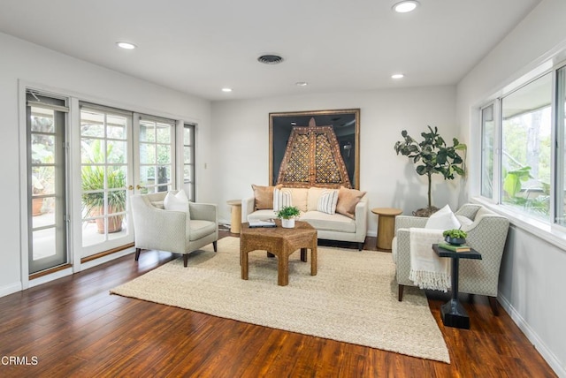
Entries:
MULTIPOLYGON (((556 211, 551 207, 553 195, 564 196, 553 188, 554 73, 547 72, 480 110, 480 195, 545 223, 552 223, 553 213, 556 220, 564 213, 564 206, 556 211)), ((564 83, 557 84, 563 108, 566 90, 561 91, 564 83)), ((562 109, 562 124, 563 118, 562 109)))

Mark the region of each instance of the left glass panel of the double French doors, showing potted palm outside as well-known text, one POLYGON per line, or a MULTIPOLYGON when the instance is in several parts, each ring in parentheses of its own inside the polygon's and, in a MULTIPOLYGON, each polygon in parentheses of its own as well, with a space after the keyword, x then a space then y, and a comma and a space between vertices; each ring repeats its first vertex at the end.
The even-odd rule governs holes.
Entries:
POLYGON ((83 256, 133 241, 126 211, 130 125, 127 115, 80 111, 83 256))

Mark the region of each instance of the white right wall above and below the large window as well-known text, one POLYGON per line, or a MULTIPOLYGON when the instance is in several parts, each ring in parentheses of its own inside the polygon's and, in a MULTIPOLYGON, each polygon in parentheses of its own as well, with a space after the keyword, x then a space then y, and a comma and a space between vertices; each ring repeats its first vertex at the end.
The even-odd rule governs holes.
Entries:
MULTIPOLYGON (((460 82, 457 117, 466 140, 478 142, 477 107, 487 96, 566 46, 564 14, 565 1, 543 0, 460 82)), ((470 161, 471 170, 477 171, 478 163, 470 161)), ((513 226, 500 277, 503 305, 561 376, 566 376, 565 249, 513 226)))

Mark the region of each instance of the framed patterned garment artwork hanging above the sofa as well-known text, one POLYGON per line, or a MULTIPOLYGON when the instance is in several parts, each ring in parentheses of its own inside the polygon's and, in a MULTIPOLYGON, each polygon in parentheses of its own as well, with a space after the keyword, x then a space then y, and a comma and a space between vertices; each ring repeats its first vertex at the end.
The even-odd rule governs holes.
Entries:
MULTIPOLYGON (((312 110, 312 111, 290 111, 290 112, 274 112, 269 114, 269 183, 270 185, 283 184, 289 187, 335 187, 346 186, 359 189, 360 186, 360 152, 359 152, 359 139, 360 139, 360 110, 359 109, 342 109, 342 110, 312 110), (287 162, 289 151, 288 147, 290 138, 294 143, 294 136, 296 130, 301 128, 313 127, 315 132, 322 132, 323 128, 330 130, 329 134, 335 135, 337 145, 332 147, 332 155, 336 157, 336 162, 342 168, 337 170, 344 170, 344 176, 348 179, 345 182, 338 182, 336 180, 326 180, 320 182, 313 179, 306 182, 303 179, 296 181, 281 179, 279 173, 285 174, 281 171, 281 166, 287 169, 287 162), (298 128, 298 129, 297 129, 298 128), (340 151, 340 153, 338 153, 340 151), (287 154, 287 158, 286 158, 287 154), (341 156, 343 165, 339 162, 337 155, 341 156), (287 159, 287 160, 286 160, 287 159), (349 181, 349 182, 348 182, 349 181)), ((334 143, 336 144, 336 143, 334 143)), ((306 154, 304 154, 306 155, 306 154)), ((329 153, 330 155, 330 153, 329 153)), ((310 170, 310 177, 317 178, 320 163, 315 163, 315 158, 312 156, 303 156, 304 165, 309 167, 302 167, 306 172, 310 170)), ((297 162, 294 162, 296 167, 297 162)), ((305 173, 306 174, 306 173, 305 173)))

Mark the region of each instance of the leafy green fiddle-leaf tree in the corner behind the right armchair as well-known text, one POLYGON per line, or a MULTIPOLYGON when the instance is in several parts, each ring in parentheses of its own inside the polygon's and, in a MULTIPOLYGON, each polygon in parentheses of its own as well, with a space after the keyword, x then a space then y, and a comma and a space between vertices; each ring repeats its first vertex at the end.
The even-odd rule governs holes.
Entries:
POLYGON ((403 130, 403 140, 397 141, 394 146, 397 155, 407 156, 413 163, 417 163, 417 173, 426 176, 428 180, 428 206, 413 213, 417 216, 430 216, 438 210, 432 206, 432 175, 441 174, 447 180, 464 175, 463 158, 458 151, 465 154, 466 145, 453 138, 453 145, 447 146, 437 127, 432 130, 432 127, 428 126, 428 130, 429 132, 421 132, 421 142, 417 142, 403 130))

